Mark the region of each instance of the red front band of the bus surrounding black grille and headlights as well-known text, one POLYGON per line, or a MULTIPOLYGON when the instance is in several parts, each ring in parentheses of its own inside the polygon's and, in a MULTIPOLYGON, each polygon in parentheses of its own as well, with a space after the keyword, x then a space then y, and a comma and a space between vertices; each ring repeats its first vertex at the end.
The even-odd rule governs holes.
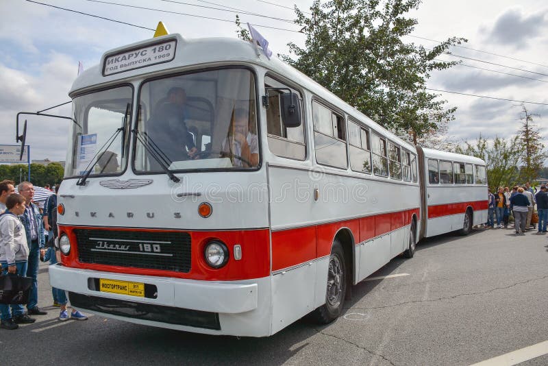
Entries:
MULTIPOLYGON (((89 227, 73 227, 59 225, 60 234, 67 234, 71 243, 76 243, 74 229, 88 229, 89 227)), ((132 231, 132 232, 181 232, 180 230, 154 230, 154 229, 127 229, 127 228, 99 228, 100 230, 132 231)), ((262 278, 270 274, 270 247, 269 230, 234 230, 234 231, 184 231, 190 234, 191 263, 188 273, 165 271, 161 269, 142 269, 136 267, 121 267, 114 265, 98 265, 81 263, 78 257, 77 245, 71 245, 69 256, 62 255, 62 263, 66 267, 79 269, 92 269, 112 273, 128 273, 142 276, 159 276, 166 278, 187 278, 206 281, 234 281, 247 280, 249 278, 262 278), (212 239, 223 241, 229 250, 229 261, 225 267, 213 269, 206 264, 203 258, 203 250, 212 239), (235 260, 233 248, 239 244, 242 248, 242 259, 235 260)))

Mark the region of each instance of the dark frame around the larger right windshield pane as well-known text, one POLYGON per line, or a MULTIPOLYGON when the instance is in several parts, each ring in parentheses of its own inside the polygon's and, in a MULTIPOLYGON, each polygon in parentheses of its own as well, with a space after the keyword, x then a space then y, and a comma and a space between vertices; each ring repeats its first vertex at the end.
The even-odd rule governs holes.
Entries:
MULTIPOLYGON (((256 123, 257 123, 257 136, 258 136, 258 147, 259 147, 259 163, 257 164, 257 167, 253 168, 245 168, 245 167, 231 167, 231 168, 198 168, 198 169, 173 169, 170 170, 171 173, 204 173, 204 172, 240 172, 240 171, 258 171, 262 167, 264 156, 262 154, 262 143, 261 143, 261 118, 260 118, 260 106, 262 106, 262 103, 260 102, 259 98, 259 89, 258 89, 258 75, 256 69, 253 69, 251 65, 247 64, 226 64, 221 66, 214 66, 214 67, 206 67, 206 68, 200 68, 200 69, 191 69, 181 72, 175 72, 175 73, 166 73, 162 75, 158 75, 155 77, 149 77, 145 80, 142 80, 142 82, 138 85, 138 91, 136 95, 136 108, 134 110, 138 109, 138 106, 140 104, 141 100, 141 91, 142 87, 147 84, 148 82, 153 82, 154 80, 162 80, 167 79, 169 77, 179 77, 183 75, 192 75, 197 73, 204 73, 208 71, 219 71, 219 70, 227 70, 227 69, 243 69, 247 70, 253 75, 253 80, 255 82, 255 106, 256 106, 256 123), (260 105, 259 105, 260 103, 260 105)), ((134 130, 137 127, 137 124, 139 123, 139 117, 136 116, 134 123, 132 124, 132 130, 134 130)), ((164 171, 138 171, 136 169, 135 163, 136 163, 136 151, 137 151, 137 136, 136 134, 132 133, 132 154, 131 154, 131 160, 132 160, 132 171, 135 175, 160 175, 160 174, 166 174, 164 171)))

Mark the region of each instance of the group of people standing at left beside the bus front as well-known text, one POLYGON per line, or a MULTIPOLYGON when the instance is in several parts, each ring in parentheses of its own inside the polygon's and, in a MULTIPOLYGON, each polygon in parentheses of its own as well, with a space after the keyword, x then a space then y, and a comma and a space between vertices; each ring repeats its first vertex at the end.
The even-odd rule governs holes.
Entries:
MULTIPOLYGON (((59 186, 55 186, 57 193, 59 186)), ((0 304, 0 328, 14 330, 18 324, 32 324, 36 318, 31 315, 47 315, 38 307, 39 261, 57 263, 59 252, 55 248, 57 232, 57 196, 51 195, 44 210, 33 202, 34 185, 21 182, 17 186, 11 180, 0 182, 0 267, 2 276, 26 276, 32 278, 32 287, 27 302, 23 305, 0 304)), ((59 320, 86 320, 88 317, 72 310, 69 317, 66 310, 66 294, 52 289, 53 306, 60 306, 59 320)))

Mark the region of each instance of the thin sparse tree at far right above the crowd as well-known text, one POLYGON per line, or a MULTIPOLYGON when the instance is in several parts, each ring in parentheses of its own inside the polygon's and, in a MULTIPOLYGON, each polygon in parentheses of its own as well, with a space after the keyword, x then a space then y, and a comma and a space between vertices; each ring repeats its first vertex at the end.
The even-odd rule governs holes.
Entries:
POLYGON ((523 182, 533 182, 538 178, 546 157, 544 145, 540 142, 540 132, 533 121, 533 117, 540 115, 530 113, 523 103, 521 109, 521 127, 518 131, 519 141, 523 145, 520 178, 523 182))

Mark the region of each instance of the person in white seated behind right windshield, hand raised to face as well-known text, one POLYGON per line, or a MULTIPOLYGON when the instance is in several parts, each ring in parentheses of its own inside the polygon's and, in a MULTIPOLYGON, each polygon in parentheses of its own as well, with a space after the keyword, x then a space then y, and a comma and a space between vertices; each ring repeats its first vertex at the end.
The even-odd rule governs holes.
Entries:
POLYGON ((259 164, 259 142, 249 123, 249 112, 236 108, 230 123, 227 138, 221 145, 221 156, 230 158, 234 167, 257 167, 259 164))

